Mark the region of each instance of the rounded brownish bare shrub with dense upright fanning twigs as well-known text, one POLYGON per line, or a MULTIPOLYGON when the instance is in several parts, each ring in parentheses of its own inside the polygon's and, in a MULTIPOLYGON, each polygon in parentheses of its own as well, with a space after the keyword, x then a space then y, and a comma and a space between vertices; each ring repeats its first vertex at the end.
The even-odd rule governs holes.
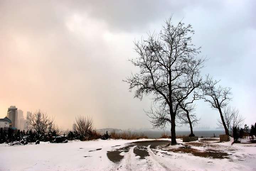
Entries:
POLYGON ((78 116, 75 118, 74 130, 85 139, 89 138, 89 133, 93 131, 94 121, 89 116, 78 116))

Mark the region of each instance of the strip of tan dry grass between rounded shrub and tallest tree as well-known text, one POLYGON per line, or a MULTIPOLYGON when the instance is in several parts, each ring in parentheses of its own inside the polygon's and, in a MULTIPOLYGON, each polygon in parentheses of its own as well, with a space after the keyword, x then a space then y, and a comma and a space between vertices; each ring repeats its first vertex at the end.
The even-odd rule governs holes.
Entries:
POLYGON ((110 133, 111 138, 113 139, 141 139, 141 138, 148 138, 145 136, 144 133, 137 133, 137 132, 130 132, 128 131, 123 131, 121 133, 116 133, 115 131, 112 131, 110 133))

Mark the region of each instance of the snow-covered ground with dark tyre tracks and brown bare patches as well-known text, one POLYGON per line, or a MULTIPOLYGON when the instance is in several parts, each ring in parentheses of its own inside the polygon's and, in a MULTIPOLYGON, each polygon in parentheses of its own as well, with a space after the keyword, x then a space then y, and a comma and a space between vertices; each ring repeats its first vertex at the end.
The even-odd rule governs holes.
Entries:
POLYGON ((0 170, 256 170, 256 144, 152 140, 0 144, 0 170))

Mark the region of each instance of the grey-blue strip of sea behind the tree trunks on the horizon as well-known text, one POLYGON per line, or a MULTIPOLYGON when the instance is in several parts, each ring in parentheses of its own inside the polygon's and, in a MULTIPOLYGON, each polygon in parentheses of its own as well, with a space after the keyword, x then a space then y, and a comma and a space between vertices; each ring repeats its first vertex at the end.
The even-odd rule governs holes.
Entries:
MULTIPOLYGON (((138 131, 136 131, 138 132, 138 131)), ((151 131, 151 130, 146 130, 146 131, 140 131, 141 133, 144 133, 145 136, 148 138, 160 138, 164 131, 151 131)), ((165 131, 168 136, 171 136, 171 131, 165 131)), ((201 138, 212 138, 214 137, 219 137, 221 134, 225 134, 224 130, 195 130, 193 131, 195 136, 201 138)), ((176 131, 176 136, 188 136, 190 134, 190 131, 176 131)))

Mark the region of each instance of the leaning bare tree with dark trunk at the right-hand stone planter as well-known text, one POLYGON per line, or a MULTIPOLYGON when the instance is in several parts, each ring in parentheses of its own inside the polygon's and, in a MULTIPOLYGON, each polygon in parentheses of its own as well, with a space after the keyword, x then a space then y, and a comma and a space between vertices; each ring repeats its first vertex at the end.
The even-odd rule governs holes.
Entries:
POLYGON ((222 109, 225 108, 231 100, 231 88, 218 86, 218 83, 219 81, 216 81, 213 77, 207 75, 206 82, 202 86, 202 99, 208 102, 213 109, 219 111, 225 134, 229 135, 229 129, 226 125, 222 109))

